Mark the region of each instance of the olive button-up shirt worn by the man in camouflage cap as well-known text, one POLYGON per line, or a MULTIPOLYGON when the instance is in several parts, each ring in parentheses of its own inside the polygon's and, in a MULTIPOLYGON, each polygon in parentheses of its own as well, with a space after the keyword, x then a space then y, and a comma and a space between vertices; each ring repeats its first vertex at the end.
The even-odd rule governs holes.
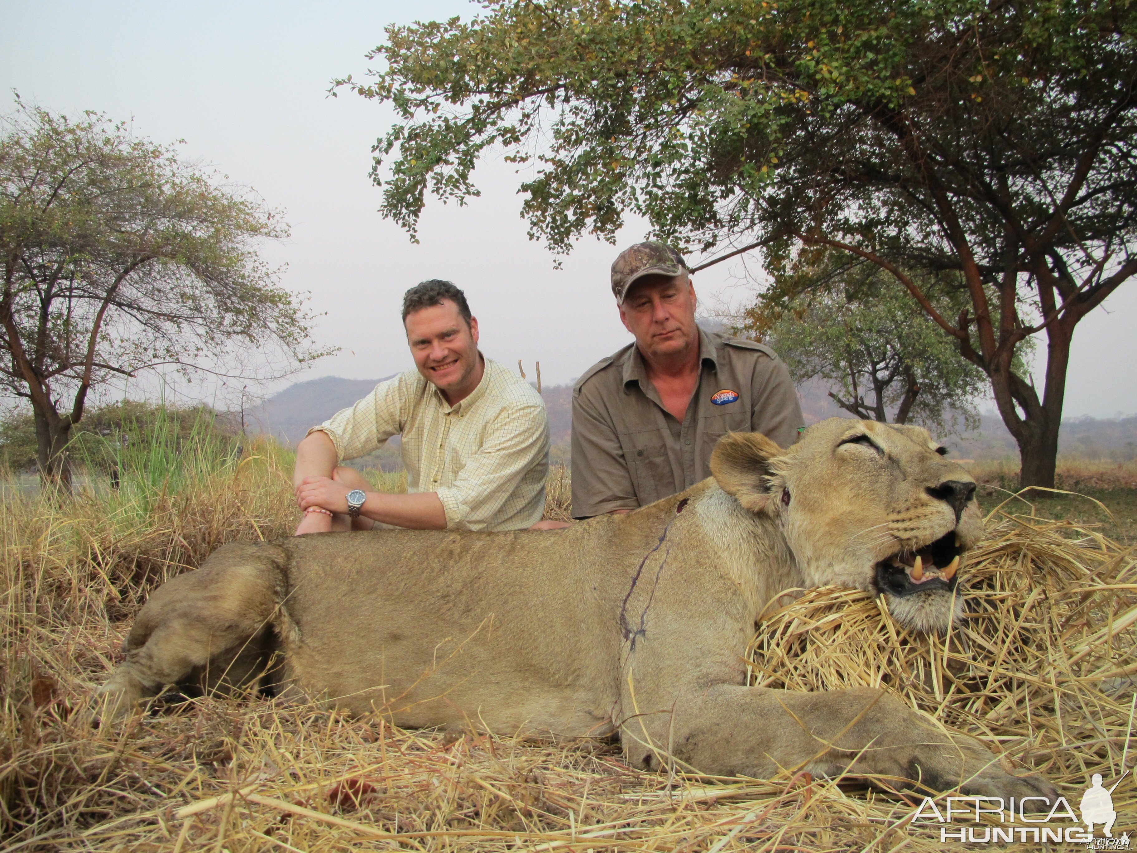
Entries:
POLYGON ((634 343, 595 364, 573 388, 572 514, 634 510, 711 475, 728 432, 797 440, 802 407, 772 349, 699 330, 699 382, 682 423, 669 413, 634 343))

